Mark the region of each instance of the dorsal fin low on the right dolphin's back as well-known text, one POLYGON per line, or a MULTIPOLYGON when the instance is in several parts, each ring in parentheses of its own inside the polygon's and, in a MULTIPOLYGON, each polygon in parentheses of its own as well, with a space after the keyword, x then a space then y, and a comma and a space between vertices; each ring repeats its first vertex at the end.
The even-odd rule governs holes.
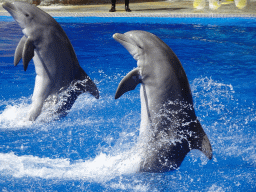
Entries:
POLYGON ((202 151, 208 159, 212 159, 211 143, 198 120, 195 125, 195 134, 190 139, 191 148, 202 151))

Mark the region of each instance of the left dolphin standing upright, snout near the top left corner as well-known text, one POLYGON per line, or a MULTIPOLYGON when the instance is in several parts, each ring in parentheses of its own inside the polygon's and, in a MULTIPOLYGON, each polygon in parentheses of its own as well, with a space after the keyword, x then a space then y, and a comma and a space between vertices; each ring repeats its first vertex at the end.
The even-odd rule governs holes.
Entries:
POLYGON ((57 104, 59 93, 70 86, 73 89, 59 99, 62 103, 55 113, 60 116, 67 113, 83 92, 99 98, 96 85, 79 65, 66 33, 55 19, 26 2, 6 2, 2 6, 20 25, 24 34, 15 50, 14 66, 22 59, 26 71, 32 58, 35 65, 35 87, 28 120, 36 120, 46 100, 57 104))

